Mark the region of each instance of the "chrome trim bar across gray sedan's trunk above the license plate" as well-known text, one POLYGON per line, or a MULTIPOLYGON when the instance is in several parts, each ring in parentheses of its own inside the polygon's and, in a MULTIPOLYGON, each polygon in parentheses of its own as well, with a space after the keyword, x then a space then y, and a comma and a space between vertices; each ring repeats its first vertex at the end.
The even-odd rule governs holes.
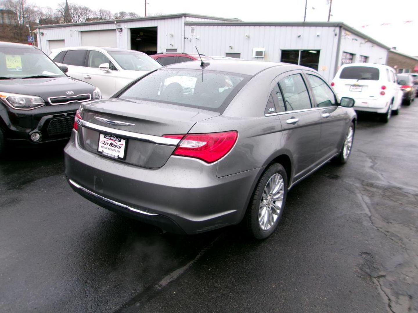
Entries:
POLYGON ((165 146, 177 146, 177 144, 180 142, 180 139, 165 138, 165 137, 154 136, 154 135, 134 133, 132 131, 125 131, 122 129, 115 129, 115 128, 93 124, 87 121, 83 121, 81 119, 77 119, 77 124, 79 124, 80 126, 86 127, 88 129, 102 131, 107 134, 120 135, 125 138, 139 139, 143 141, 149 141, 154 144, 162 144, 165 146))

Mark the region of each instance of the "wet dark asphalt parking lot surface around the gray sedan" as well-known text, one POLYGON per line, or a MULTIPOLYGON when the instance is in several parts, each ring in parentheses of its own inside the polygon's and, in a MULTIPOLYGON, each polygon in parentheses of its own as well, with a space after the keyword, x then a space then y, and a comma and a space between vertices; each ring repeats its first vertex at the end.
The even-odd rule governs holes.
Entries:
POLYGON ((161 234, 71 190, 63 144, 0 162, 1 312, 416 312, 418 101, 360 116, 349 162, 264 241, 161 234))

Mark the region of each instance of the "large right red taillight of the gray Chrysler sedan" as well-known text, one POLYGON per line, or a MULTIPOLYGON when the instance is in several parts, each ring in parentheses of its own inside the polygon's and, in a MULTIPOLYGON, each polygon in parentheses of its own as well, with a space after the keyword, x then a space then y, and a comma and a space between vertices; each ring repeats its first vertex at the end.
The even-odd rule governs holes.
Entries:
POLYGON ((181 139, 173 155, 215 162, 225 156, 238 138, 237 131, 211 134, 164 135, 166 138, 181 139))

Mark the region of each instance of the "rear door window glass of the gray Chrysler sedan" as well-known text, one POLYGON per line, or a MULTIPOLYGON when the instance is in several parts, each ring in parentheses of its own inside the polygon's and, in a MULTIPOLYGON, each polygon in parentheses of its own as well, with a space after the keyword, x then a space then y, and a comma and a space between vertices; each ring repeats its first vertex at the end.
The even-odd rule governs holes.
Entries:
POLYGON ((311 99, 301 74, 294 74, 279 81, 283 91, 286 111, 311 109, 311 99))

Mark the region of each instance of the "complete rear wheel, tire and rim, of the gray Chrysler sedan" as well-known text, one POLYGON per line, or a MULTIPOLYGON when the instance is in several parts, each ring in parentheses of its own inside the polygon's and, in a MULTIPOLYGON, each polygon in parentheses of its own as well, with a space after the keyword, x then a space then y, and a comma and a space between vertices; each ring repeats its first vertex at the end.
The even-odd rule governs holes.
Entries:
POLYGON ((287 181, 286 171, 278 163, 270 165, 261 175, 243 221, 251 237, 265 239, 276 229, 285 207, 287 181))

